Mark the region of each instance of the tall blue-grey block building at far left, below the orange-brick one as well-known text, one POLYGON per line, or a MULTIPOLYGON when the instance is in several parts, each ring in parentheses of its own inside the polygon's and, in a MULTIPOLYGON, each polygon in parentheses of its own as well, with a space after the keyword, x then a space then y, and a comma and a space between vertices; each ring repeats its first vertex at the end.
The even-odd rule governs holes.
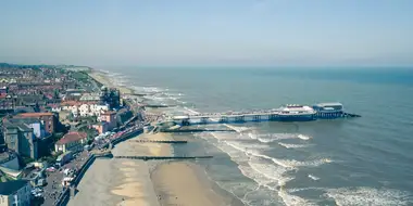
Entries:
POLYGON ((37 138, 34 129, 24 123, 4 120, 3 137, 5 145, 22 156, 38 158, 37 138))

